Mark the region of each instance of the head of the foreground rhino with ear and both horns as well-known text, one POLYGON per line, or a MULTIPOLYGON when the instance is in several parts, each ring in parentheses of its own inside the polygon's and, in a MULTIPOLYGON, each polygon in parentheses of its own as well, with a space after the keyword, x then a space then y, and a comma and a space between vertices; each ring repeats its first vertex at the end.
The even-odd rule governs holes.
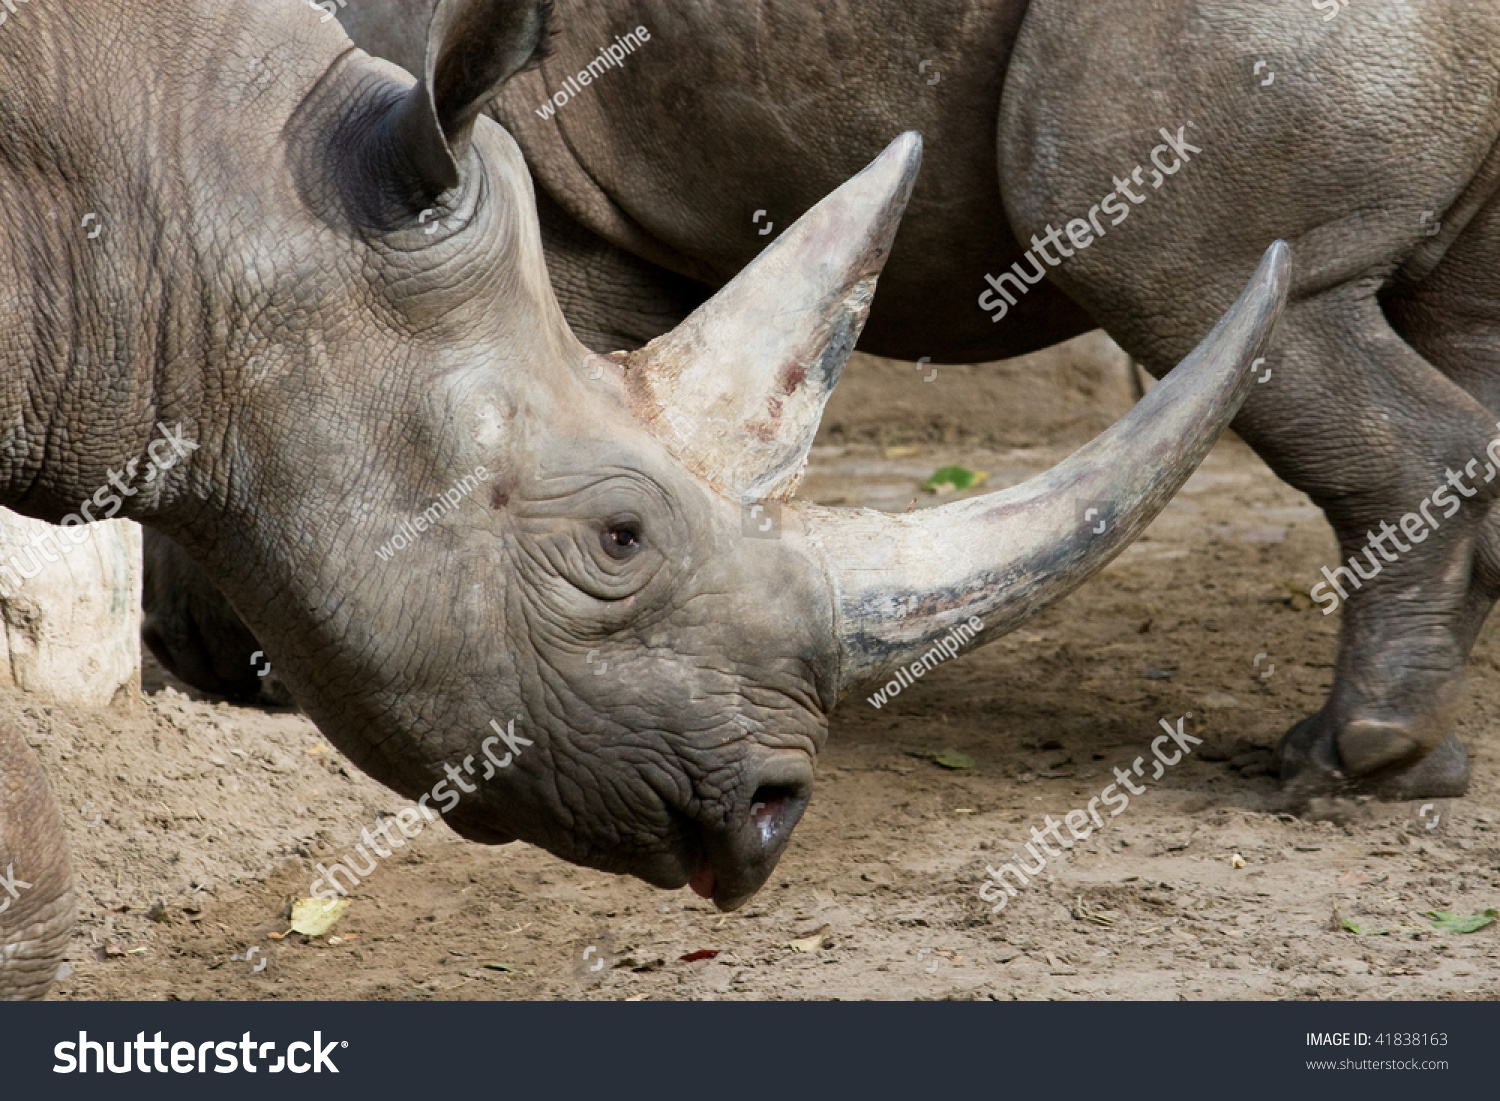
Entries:
POLYGON ((680 328, 591 354, 548 284, 518 147, 478 116, 538 10, 442 0, 416 84, 350 52, 309 90, 286 128, 304 213, 231 363, 225 474, 200 494, 216 512, 164 526, 376 778, 466 837, 730 908, 780 856, 842 694, 1070 591, 1191 472, 1244 398, 1284 249, 1050 474, 908 516, 802 507, 920 140, 680 328), (1108 502, 1104 534, 1080 500, 1108 502))

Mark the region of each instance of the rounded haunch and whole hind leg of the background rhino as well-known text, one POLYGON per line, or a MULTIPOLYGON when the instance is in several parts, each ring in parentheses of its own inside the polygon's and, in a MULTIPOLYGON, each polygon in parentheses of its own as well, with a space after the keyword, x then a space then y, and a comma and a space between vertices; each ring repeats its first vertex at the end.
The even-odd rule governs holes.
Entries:
POLYGON ((1434 3, 1402 9, 1392 33, 1390 10, 1352 6, 1329 32, 1250 0, 1216 4, 1212 20, 1192 4, 1144 4, 1124 24, 1108 4, 1048 0, 1026 16, 1000 111, 1017 236, 1056 240, 1068 228, 1074 248, 1050 278, 1152 374, 1212 324, 1268 242, 1292 244, 1292 304, 1266 356, 1274 374, 1233 428, 1323 508, 1340 542, 1338 558, 1305 576, 1326 614, 1335 592, 1320 567, 1342 570, 1344 596, 1329 699, 1278 753, 1293 801, 1341 789, 1454 795, 1468 782, 1454 724, 1482 618, 1474 550, 1500 489, 1484 477, 1486 446, 1500 434, 1480 400, 1402 339, 1378 296, 1431 255, 1432 212, 1452 222, 1485 194, 1479 170, 1500 132, 1480 93, 1492 69, 1455 58, 1470 46, 1494 56, 1500 21, 1434 3), (1251 87, 1245 42, 1298 63, 1251 87), (1149 80, 1143 57, 1156 58, 1149 80), (1376 70, 1401 72, 1401 90, 1376 70), (1455 96, 1479 105, 1462 126, 1444 124, 1455 96), (1370 132, 1392 141, 1370 144, 1370 132), (1095 225, 1092 204, 1125 213, 1095 225), (1449 471, 1473 470, 1464 490, 1449 484, 1449 471), (1408 524, 1420 534, 1407 536, 1408 524))

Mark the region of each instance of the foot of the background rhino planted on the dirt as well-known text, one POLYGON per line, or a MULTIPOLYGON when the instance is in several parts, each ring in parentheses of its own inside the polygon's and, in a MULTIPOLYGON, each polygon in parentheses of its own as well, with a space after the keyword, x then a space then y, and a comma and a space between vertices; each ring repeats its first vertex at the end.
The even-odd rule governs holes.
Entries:
POLYGON ((1335 730, 1323 712, 1287 730, 1272 765, 1293 804, 1320 795, 1456 798, 1468 790, 1470 777, 1468 752, 1456 734, 1424 754, 1395 723, 1354 722, 1335 730))

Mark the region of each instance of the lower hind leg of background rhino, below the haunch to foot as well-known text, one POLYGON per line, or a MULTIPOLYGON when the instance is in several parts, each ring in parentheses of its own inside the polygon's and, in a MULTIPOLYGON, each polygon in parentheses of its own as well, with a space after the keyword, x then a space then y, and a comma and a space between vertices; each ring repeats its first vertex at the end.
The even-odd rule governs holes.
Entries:
MULTIPOLYGON (((1334 688, 1282 738, 1281 778, 1293 800, 1462 795, 1470 561, 1500 482, 1480 471, 1460 494, 1448 474, 1482 465, 1496 418, 1390 328, 1370 284, 1290 309, 1275 352, 1293 376, 1254 394, 1234 428, 1323 508, 1340 544, 1323 578, 1347 594, 1334 688), (1438 488, 1438 506, 1458 504, 1431 504, 1438 488)), ((1338 588, 1314 585, 1324 614, 1338 588)))

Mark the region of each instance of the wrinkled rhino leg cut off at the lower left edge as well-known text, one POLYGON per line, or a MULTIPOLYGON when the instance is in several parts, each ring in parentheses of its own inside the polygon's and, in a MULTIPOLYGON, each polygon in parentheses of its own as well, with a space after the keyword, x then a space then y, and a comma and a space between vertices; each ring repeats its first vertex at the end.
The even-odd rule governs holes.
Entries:
POLYGON ((68 831, 32 747, 0 726, 0 1000, 45 994, 72 930, 68 831))

